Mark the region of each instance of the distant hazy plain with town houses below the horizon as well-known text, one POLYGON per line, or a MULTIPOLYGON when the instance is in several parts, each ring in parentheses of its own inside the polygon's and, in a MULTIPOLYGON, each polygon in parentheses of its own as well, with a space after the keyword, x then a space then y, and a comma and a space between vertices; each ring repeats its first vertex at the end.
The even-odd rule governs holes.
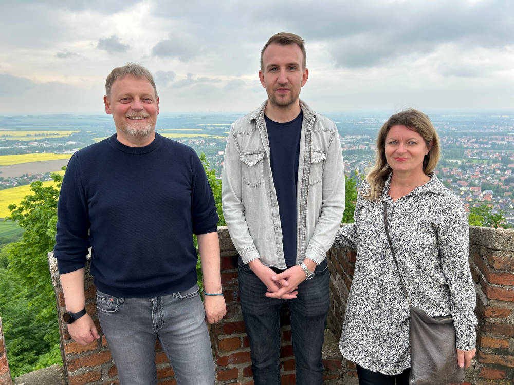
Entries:
MULTIPOLYGON (((376 134, 389 114, 324 114, 338 127, 346 175, 354 177, 355 171, 365 175, 374 161, 376 134)), ((463 200, 467 210, 487 204, 494 212, 501 210, 508 222, 514 224, 514 112, 428 114, 441 139, 442 159, 435 171, 438 178, 463 200)), ((231 123, 240 116, 160 115, 157 132, 193 147, 197 153, 205 153, 210 167, 221 176, 228 131, 231 123)), ((113 133, 112 118, 107 115, 0 117, 0 155, 34 152, 71 154, 113 133), (13 130, 30 130, 27 134, 30 140, 23 140, 22 136, 2 135, 2 131, 13 130), (56 135, 38 139, 34 130, 56 135), (57 136, 59 132, 65 132, 66 136, 57 136)), ((62 161, 63 165, 66 163, 67 160, 62 161)), ((22 165, 17 166, 21 167, 20 175, 11 177, 4 176, 3 170, 12 166, 0 166, 0 188, 49 179, 48 172, 32 172, 30 167, 23 169, 22 165)), ((56 166, 48 163, 48 167, 56 166)))

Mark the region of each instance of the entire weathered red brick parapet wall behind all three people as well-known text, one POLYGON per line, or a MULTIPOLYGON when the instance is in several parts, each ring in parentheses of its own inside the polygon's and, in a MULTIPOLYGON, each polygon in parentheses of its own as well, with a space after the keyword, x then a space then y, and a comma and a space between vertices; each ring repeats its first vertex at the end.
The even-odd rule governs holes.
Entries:
MULTIPOLYGON (((221 246, 222 284, 227 315, 210 328, 218 385, 253 383, 250 349, 238 304, 237 253, 226 227, 218 228, 221 246)), ((470 227, 470 263, 476 282, 479 318, 477 358, 466 371, 466 384, 514 383, 514 230, 470 227)), ((324 384, 357 384, 355 364, 342 359, 338 348, 342 317, 353 276, 356 252, 332 248, 327 253, 331 271, 331 307, 324 347, 324 384)), ((52 283, 56 292, 59 319, 65 311, 56 261, 49 254, 52 283)), ((94 304, 95 288, 86 271, 86 309, 98 325, 94 304)), ((288 310, 281 317, 281 375, 283 384, 295 383, 294 358, 288 310)), ((118 376, 104 338, 87 347, 70 339, 66 324, 59 321, 65 371, 71 385, 116 384, 118 376)), ((160 384, 175 384, 166 355, 156 345, 160 384)), ((1 356, 0 356, 1 358, 1 356)), ((1 368, 1 364, 0 364, 1 368)), ((0 385, 2 385, 0 383, 0 385)))

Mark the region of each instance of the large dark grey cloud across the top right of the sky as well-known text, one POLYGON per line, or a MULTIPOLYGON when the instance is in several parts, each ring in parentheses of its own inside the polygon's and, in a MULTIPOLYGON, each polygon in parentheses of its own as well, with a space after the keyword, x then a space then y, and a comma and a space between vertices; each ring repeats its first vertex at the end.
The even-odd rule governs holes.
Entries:
POLYGON ((250 5, 228 0, 221 12, 217 4, 201 0, 172 8, 157 0, 155 15, 178 25, 187 21, 188 30, 205 39, 206 49, 229 45, 244 52, 245 45, 262 46, 273 33, 298 33, 306 41, 307 57, 309 44, 323 43, 337 66, 350 68, 378 66, 413 53, 426 55, 449 42, 485 48, 514 44, 514 3, 505 0, 328 0, 295 2, 294 7, 291 3, 263 0, 250 5), (313 15, 322 22, 313 23, 313 15), (251 31, 234 33, 248 25, 251 31))

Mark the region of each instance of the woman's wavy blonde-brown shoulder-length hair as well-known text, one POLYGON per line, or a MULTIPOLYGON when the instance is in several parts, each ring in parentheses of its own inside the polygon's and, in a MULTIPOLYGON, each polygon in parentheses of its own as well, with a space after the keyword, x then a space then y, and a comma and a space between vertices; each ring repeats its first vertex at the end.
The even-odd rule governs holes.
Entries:
POLYGON ((368 191, 361 191, 361 195, 366 199, 378 200, 392 171, 386 161, 386 137, 391 127, 398 125, 406 126, 420 134, 428 148, 430 148, 428 155, 425 155, 423 160, 423 172, 425 174, 430 174, 439 161, 441 154, 439 136, 427 115, 415 109, 408 109, 392 115, 378 132, 375 165, 366 175, 366 181, 368 181, 371 188, 368 191))

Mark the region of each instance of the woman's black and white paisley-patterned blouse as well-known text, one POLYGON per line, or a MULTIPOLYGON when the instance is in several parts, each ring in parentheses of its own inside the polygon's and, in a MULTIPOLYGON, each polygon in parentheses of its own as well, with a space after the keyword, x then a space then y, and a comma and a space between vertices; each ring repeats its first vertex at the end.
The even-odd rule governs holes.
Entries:
MULTIPOLYGON (((357 248, 339 349, 361 367, 387 375, 411 365, 409 307, 388 247, 383 202, 400 274, 413 306, 451 314, 456 348, 475 347, 475 290, 469 269, 469 229, 462 202, 435 175, 393 202, 391 175, 377 201, 357 198, 355 223, 334 244, 357 248)), ((370 189, 362 182, 360 191, 370 189)))

